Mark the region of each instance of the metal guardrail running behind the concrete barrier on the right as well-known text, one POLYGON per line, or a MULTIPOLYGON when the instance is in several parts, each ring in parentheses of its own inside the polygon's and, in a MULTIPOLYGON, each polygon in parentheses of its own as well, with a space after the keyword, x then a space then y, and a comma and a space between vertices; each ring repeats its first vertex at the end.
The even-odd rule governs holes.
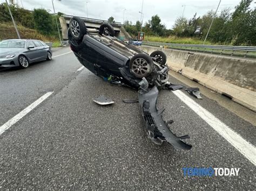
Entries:
POLYGON ((255 46, 224 46, 224 45, 191 45, 191 44, 174 44, 143 41, 143 45, 160 46, 165 48, 174 48, 181 50, 190 50, 196 52, 206 52, 212 54, 224 54, 231 56, 244 56, 256 58, 255 46))

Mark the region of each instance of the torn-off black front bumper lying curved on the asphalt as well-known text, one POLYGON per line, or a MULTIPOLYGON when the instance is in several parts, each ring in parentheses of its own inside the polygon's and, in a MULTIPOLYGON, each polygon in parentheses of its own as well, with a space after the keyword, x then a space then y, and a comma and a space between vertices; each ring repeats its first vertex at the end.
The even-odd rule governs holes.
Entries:
POLYGON ((187 135, 181 137, 174 135, 167 127, 167 125, 173 123, 173 121, 165 122, 163 120, 162 113, 164 108, 157 110, 156 103, 158 92, 156 86, 148 90, 146 79, 143 80, 142 83, 140 82, 140 89, 138 91, 139 108, 149 138, 156 144, 161 144, 166 141, 178 150, 190 150, 192 146, 181 140, 190 137, 187 135))

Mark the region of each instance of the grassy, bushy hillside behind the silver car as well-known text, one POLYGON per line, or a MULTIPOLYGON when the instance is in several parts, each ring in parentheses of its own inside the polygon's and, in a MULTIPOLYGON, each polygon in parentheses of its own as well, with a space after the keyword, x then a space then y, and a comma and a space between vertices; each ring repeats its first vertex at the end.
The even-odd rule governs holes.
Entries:
MULTIPOLYGON (((24 39, 39 39, 43 41, 55 42, 58 45, 58 31, 55 17, 45 9, 34 9, 29 11, 19 8, 17 5, 9 5, 12 15, 17 23, 18 31, 21 38, 24 39)), ((58 20, 58 19, 57 19, 58 20)), ((59 27, 60 24, 58 23, 59 27)), ((17 33, 12 24, 12 20, 6 3, 0 4, 0 40, 15 39, 17 33)))

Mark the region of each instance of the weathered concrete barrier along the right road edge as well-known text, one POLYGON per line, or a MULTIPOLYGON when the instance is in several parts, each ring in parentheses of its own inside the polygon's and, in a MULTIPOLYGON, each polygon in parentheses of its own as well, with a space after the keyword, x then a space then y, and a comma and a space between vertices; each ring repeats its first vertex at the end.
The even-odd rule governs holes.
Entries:
POLYGON ((256 61, 142 46, 151 53, 164 51, 169 67, 256 112, 256 61))

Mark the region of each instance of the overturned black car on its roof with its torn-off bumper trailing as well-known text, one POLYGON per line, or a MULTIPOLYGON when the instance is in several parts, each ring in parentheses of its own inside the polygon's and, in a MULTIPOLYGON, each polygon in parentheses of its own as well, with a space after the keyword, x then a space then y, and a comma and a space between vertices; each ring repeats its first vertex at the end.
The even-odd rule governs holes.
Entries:
POLYGON ((156 144, 166 141, 174 148, 190 150, 192 146, 181 140, 189 137, 174 135, 167 126, 173 121, 165 122, 161 116, 164 109, 156 107, 158 89, 171 89, 172 85, 165 53, 154 51, 149 55, 114 34, 109 23, 97 30, 87 29, 78 17, 70 20, 69 44, 80 63, 110 83, 138 89, 138 100, 126 102, 139 102, 149 138, 156 144))

